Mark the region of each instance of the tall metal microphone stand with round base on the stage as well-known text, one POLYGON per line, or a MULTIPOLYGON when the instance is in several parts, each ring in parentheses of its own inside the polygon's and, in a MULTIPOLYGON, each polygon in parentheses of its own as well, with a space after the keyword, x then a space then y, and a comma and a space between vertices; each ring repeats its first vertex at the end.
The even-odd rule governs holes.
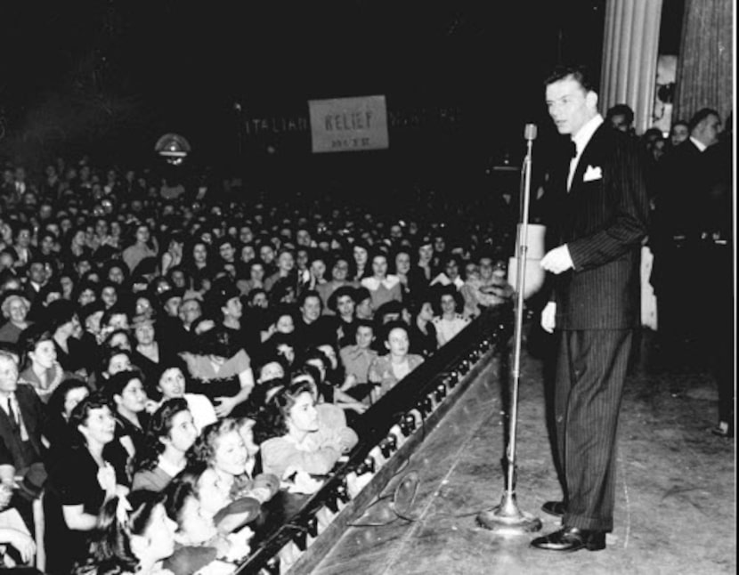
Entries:
POLYGON ((541 529, 541 521, 532 514, 525 513, 516 503, 516 424, 518 420, 518 387, 521 379, 521 340, 524 327, 524 279, 526 271, 526 254, 528 252, 529 203, 532 184, 532 147, 536 138, 536 126, 527 124, 524 129, 526 138, 526 157, 524 158, 524 206, 521 213, 521 227, 518 235, 518 262, 516 273, 516 324, 514 330, 513 390, 511 393, 506 490, 500 499, 499 506, 491 511, 482 511, 477 515, 477 523, 485 529, 508 533, 526 533, 541 529))

